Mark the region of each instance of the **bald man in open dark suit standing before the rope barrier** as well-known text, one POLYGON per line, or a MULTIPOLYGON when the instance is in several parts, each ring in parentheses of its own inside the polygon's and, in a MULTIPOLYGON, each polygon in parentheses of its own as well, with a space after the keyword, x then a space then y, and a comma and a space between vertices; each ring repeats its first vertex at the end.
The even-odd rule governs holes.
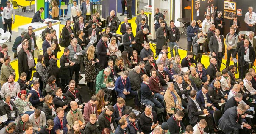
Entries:
POLYGON ((224 37, 220 36, 220 31, 215 30, 215 36, 212 36, 209 41, 209 49, 214 58, 217 58, 218 67, 221 68, 223 56, 225 56, 224 37), (220 49, 220 50, 219 50, 220 49))

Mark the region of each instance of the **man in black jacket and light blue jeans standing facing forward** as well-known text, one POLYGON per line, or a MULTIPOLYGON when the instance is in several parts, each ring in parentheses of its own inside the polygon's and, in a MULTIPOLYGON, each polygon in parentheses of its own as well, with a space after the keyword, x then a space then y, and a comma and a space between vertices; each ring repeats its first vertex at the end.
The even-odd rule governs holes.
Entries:
MULTIPOLYGON (((171 57, 174 57, 173 55, 173 48, 175 47, 175 45, 178 45, 179 39, 180 39, 180 32, 179 32, 179 28, 177 28, 174 25, 174 21, 171 20, 170 21, 170 26, 167 29, 167 35, 168 35, 168 40, 169 40, 169 47, 170 47, 170 53, 171 53, 171 57)), ((178 55, 178 49, 177 47, 174 48, 174 51, 176 52, 176 55, 178 55)))

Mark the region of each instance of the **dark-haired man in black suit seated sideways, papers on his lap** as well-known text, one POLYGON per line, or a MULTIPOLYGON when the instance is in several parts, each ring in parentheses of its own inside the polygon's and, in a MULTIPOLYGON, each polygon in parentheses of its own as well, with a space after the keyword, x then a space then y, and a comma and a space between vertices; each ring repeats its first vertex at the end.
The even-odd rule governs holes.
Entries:
POLYGON ((199 122, 201 119, 205 119, 209 130, 212 134, 214 134, 214 123, 213 116, 209 114, 208 110, 205 109, 199 102, 196 100, 196 90, 192 90, 190 92, 190 100, 188 101, 188 117, 189 123, 195 125, 196 122, 199 122), (206 114, 206 116, 200 116, 206 114))

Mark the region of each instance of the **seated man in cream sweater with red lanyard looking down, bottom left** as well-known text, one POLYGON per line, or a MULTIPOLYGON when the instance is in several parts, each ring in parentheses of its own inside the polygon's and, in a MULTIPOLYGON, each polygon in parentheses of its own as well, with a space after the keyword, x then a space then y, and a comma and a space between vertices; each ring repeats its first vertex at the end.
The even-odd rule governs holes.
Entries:
POLYGON ((39 133, 41 126, 46 125, 45 114, 40 109, 35 109, 35 112, 29 116, 29 122, 33 126, 33 133, 39 133))

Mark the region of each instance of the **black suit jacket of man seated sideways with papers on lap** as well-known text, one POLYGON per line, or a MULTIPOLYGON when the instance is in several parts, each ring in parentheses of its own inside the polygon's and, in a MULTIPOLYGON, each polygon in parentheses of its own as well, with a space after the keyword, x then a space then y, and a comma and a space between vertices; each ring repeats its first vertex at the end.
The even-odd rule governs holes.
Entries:
POLYGON ((189 111, 188 117, 189 117, 190 124, 195 124, 197 122, 199 115, 204 114, 204 111, 203 111, 204 107, 197 100, 196 102, 198 103, 201 111, 198 111, 196 103, 192 99, 188 100, 188 111, 189 111))

